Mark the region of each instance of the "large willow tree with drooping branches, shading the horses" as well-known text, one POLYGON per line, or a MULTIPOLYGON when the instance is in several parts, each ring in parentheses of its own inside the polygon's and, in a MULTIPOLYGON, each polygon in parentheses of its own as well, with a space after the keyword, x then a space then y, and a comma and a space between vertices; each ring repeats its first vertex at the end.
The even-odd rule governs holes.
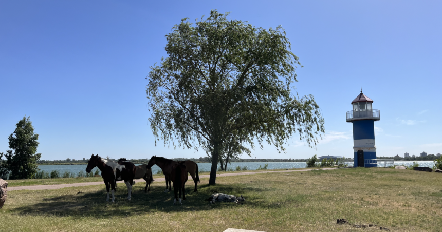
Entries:
POLYGON ((265 30, 211 11, 187 18, 167 34, 161 59, 149 72, 146 93, 156 140, 174 147, 212 147, 209 184, 215 184, 220 150, 231 134, 238 144, 273 144, 278 151, 299 134, 310 147, 324 133, 312 95, 299 98, 298 57, 282 27, 265 30))

